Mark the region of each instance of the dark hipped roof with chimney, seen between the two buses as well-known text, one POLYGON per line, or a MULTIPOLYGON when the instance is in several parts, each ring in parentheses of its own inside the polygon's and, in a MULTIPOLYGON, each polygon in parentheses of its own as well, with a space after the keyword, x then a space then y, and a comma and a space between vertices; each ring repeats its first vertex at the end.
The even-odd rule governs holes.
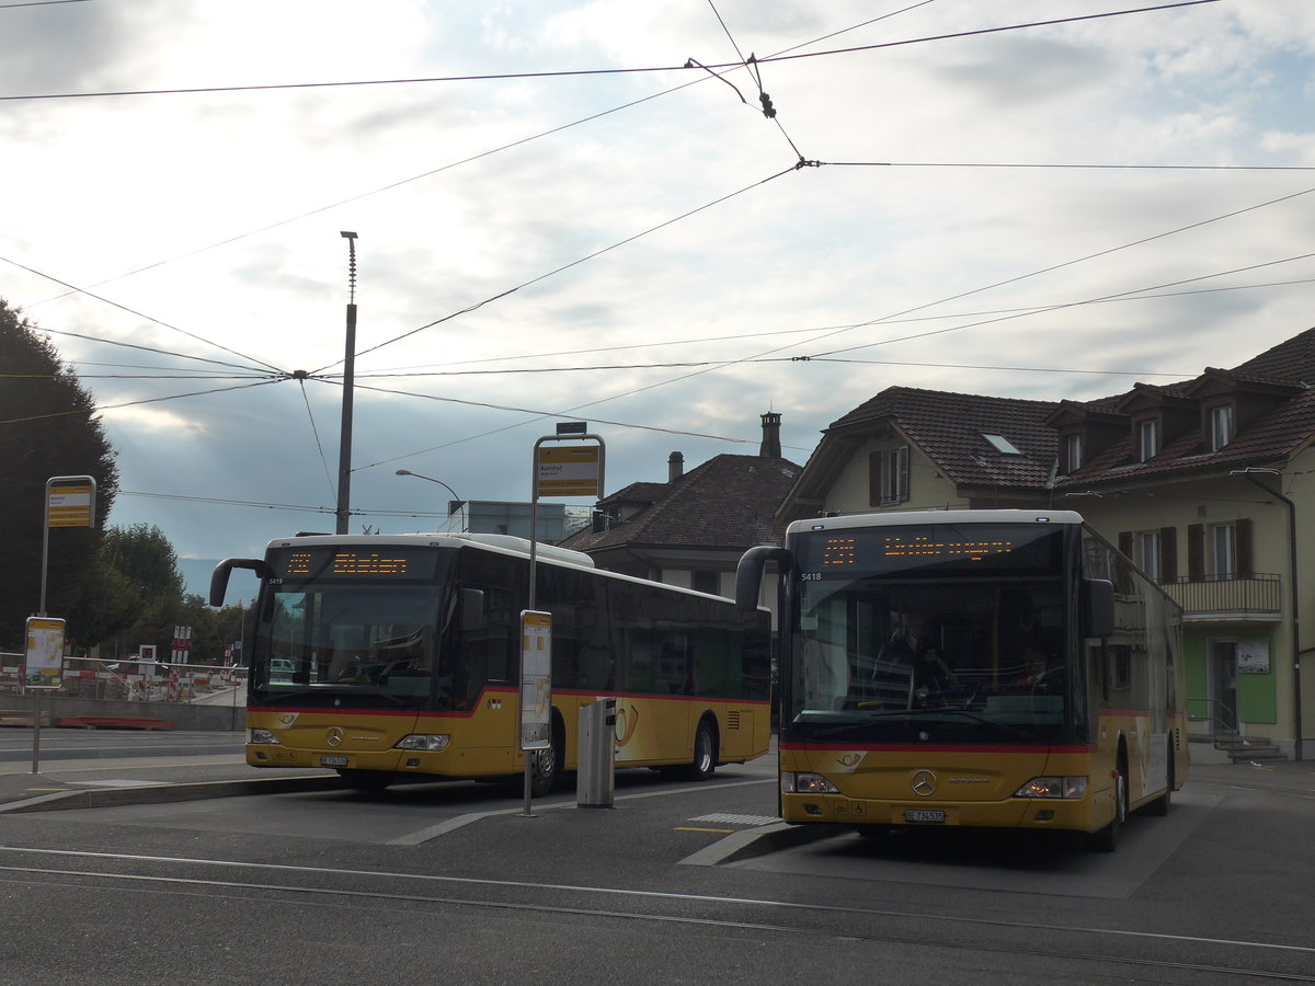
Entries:
MULTIPOLYGON (((781 543, 785 525, 773 513, 800 475, 786 459, 718 455, 675 482, 633 484, 654 488, 651 506, 610 531, 577 531, 562 543, 576 551, 621 546, 747 548, 781 543)), ((627 486, 608 497, 622 497, 627 486)), ((606 502, 606 501, 605 501, 606 502)))

